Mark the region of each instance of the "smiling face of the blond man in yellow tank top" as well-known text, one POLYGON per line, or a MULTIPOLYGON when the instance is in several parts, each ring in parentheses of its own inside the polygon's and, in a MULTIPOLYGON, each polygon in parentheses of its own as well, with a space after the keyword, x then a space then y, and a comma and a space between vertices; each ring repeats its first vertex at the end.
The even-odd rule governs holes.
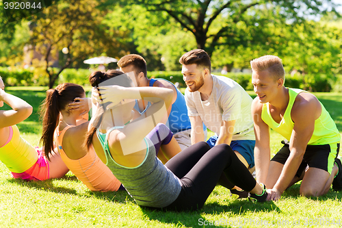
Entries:
POLYGON ((278 80, 274 80, 269 71, 252 71, 252 84, 260 103, 267 103, 274 99, 279 85, 278 80))

